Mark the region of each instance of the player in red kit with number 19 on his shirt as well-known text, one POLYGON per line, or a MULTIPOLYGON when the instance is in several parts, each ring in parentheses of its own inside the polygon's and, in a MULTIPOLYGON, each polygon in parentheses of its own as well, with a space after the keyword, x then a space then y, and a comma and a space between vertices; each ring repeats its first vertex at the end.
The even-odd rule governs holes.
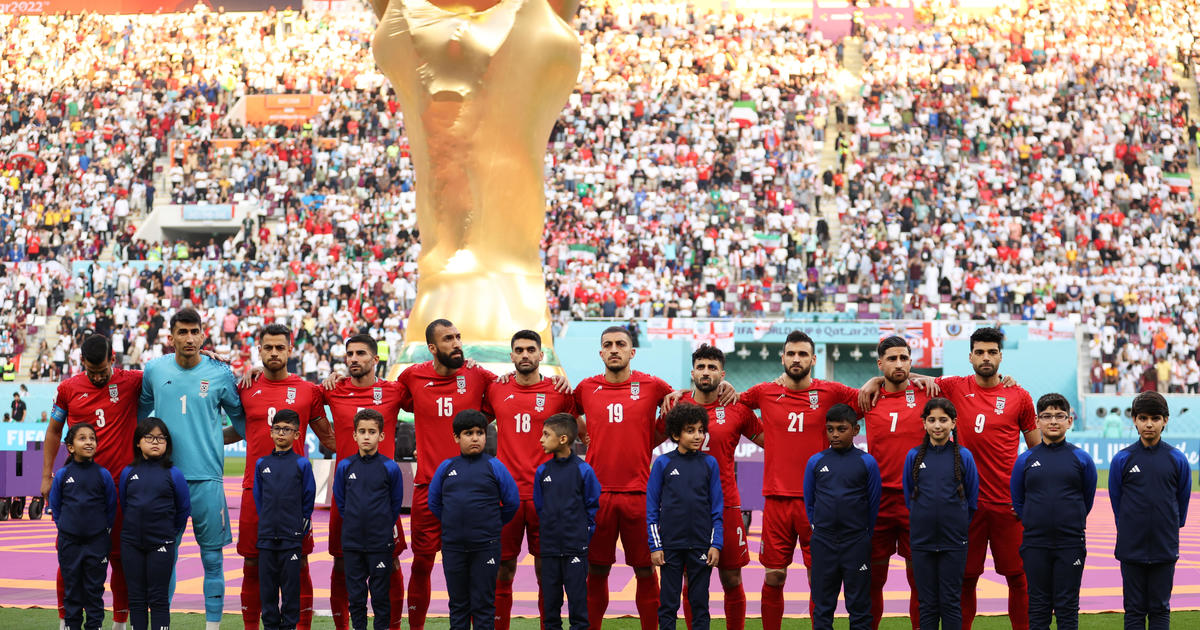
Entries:
POLYGON ((646 482, 650 454, 665 438, 659 404, 671 386, 660 378, 629 367, 634 340, 623 326, 600 335, 602 374, 583 379, 575 388, 575 406, 587 418, 587 463, 600 480, 600 510, 588 552, 588 622, 592 630, 604 624, 608 608, 608 574, 617 562, 617 536, 625 562, 637 580, 637 616, 642 630, 658 626, 659 583, 650 564, 646 539, 646 482))

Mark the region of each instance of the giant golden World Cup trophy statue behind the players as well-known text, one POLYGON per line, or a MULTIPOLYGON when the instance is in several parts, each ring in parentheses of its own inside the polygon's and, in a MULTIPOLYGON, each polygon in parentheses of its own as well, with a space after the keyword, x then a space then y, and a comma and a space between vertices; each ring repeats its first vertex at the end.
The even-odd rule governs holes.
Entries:
MULTIPOLYGON (((552 343, 541 235, 546 143, 580 72, 578 0, 372 0, 374 58, 416 172, 416 301, 394 362, 457 325, 469 356, 508 361, 521 329, 552 343), (494 352, 503 350, 503 358, 494 352)), ((552 354, 547 352, 547 362, 552 354)))

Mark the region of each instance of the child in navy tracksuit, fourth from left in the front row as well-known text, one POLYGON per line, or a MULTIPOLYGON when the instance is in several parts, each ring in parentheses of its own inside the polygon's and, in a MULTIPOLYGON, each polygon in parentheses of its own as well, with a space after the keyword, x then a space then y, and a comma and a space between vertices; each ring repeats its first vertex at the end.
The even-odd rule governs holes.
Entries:
POLYGON ((334 472, 334 502, 342 515, 346 595, 354 630, 367 628, 368 590, 376 613, 374 629, 386 630, 391 614, 388 590, 394 528, 404 505, 404 482, 396 462, 379 455, 382 436, 383 415, 374 409, 359 410, 354 414, 359 454, 338 462, 334 472))

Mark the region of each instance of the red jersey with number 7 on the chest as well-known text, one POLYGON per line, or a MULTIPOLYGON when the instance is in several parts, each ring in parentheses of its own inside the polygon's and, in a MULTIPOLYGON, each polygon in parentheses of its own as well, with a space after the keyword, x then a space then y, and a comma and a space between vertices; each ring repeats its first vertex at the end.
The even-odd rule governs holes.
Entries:
POLYGON ((880 402, 864 416, 866 450, 880 464, 884 488, 904 490, 905 457, 925 439, 920 412, 928 401, 929 395, 919 388, 880 391, 880 402))

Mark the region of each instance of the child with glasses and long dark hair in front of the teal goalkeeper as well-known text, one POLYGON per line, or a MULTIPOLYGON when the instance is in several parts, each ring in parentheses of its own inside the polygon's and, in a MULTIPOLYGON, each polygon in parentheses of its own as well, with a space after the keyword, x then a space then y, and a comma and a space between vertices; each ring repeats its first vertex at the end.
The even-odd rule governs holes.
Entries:
POLYGON ((168 587, 175 538, 192 514, 184 473, 172 466, 170 431, 157 418, 133 430, 133 463, 121 470, 121 558, 133 630, 170 625, 168 587))

